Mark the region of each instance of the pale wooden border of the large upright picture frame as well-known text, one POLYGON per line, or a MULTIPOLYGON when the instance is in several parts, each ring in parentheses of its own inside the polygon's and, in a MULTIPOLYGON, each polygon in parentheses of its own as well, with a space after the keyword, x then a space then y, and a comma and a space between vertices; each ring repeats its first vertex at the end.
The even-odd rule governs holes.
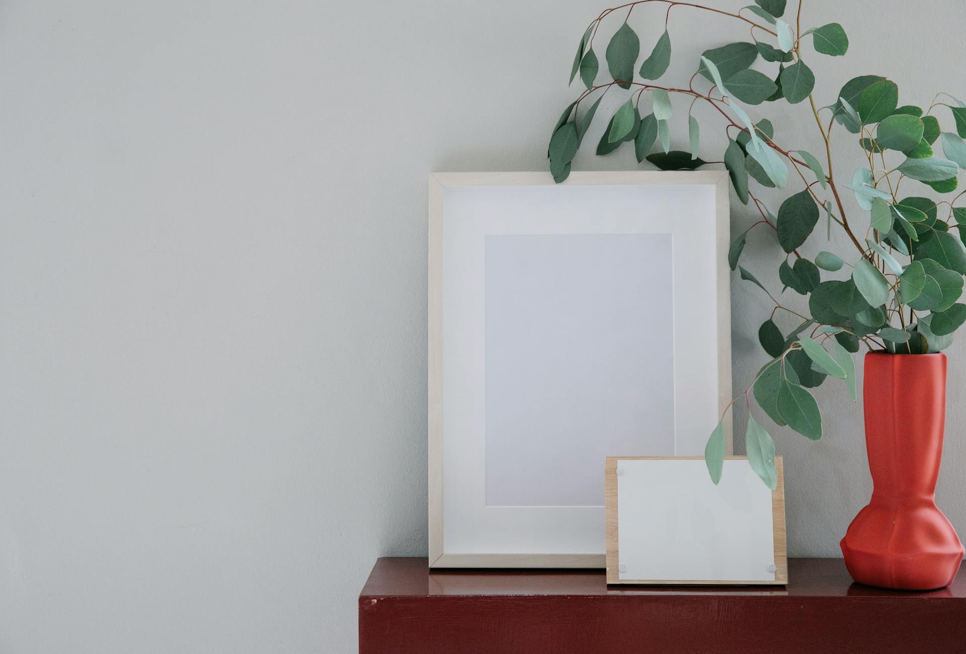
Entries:
MULTIPOLYGON (((564 185, 714 185, 716 223, 719 413, 725 412, 731 394, 730 270, 728 175, 723 170, 701 171, 578 171, 564 185)), ((554 185, 547 172, 432 173, 429 175, 429 565, 479 568, 603 568, 604 553, 579 554, 466 554, 446 552, 443 526, 442 433, 442 231, 443 192, 446 187, 554 185)), ((709 427, 710 428, 710 427, 709 427)), ((726 451, 732 451, 731 423, 725 420, 726 451)))

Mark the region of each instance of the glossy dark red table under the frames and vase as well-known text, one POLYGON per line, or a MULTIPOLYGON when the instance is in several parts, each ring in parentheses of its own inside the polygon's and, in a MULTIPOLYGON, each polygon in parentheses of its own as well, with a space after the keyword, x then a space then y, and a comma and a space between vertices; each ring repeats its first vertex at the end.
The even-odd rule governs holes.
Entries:
POLYGON ((427 569, 380 558, 359 594, 361 654, 966 652, 966 574, 933 592, 852 583, 792 558, 787 586, 608 586, 604 572, 427 569))

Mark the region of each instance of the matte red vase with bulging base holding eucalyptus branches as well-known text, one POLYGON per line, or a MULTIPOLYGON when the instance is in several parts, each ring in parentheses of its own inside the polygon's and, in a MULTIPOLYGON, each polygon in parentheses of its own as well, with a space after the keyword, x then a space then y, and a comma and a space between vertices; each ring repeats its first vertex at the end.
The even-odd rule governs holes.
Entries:
POLYGON ((936 507, 946 422, 946 355, 866 355, 872 499, 839 543, 859 583, 929 590, 952 583, 963 545, 936 507))

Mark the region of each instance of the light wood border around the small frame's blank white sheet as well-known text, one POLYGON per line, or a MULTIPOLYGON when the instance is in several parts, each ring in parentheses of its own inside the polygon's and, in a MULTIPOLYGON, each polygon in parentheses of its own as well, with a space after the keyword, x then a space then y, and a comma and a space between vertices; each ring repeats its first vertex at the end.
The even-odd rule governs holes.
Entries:
MULTIPOLYGON (((780 456, 775 457, 778 472, 778 486, 772 491, 772 534, 775 547, 775 581, 749 582, 716 580, 621 580, 617 566, 618 525, 617 525, 617 461, 703 461, 703 457, 647 457, 622 456, 608 457, 604 466, 605 497, 607 501, 607 583, 662 584, 662 585, 781 585, 788 583, 788 556, 785 539, 784 516, 784 467, 780 456)), ((726 456, 725 461, 748 461, 748 457, 726 456)))

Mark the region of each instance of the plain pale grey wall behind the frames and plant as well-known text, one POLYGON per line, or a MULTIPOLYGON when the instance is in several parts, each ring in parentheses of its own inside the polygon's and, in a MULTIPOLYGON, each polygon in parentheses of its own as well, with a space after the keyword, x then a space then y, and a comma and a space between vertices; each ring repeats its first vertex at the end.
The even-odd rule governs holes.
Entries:
MULTIPOLYGON (((426 552, 426 173, 543 169, 605 6, 0 3, 0 651, 355 649, 374 559, 426 552)), ((851 39, 810 57, 819 99, 859 73, 966 97, 960 10, 806 0, 851 39)), ((632 17, 645 49, 663 12, 632 17)), ((687 8, 670 31, 676 83, 748 37, 687 8)), ((765 110, 817 152, 806 105, 765 110)), ((575 168, 637 167, 591 154, 603 125, 575 168)), ((773 237, 748 253, 776 282, 773 237)), ((737 282, 733 301, 739 389, 770 308, 737 282)), ((939 500, 963 532, 962 337, 950 355, 939 500)), ((775 435, 791 554, 835 556, 870 482, 859 407, 819 395, 822 442, 775 435)))

